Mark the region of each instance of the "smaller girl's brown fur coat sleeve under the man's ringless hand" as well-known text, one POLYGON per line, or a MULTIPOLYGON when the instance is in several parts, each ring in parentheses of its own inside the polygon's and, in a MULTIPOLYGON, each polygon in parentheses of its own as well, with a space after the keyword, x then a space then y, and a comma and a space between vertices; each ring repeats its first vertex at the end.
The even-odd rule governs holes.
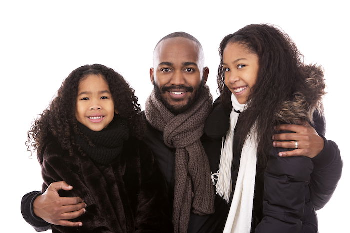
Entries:
MULTIPOLYGON (((82 227, 64 227, 58 225, 51 225, 51 227, 57 229, 61 233, 111 233, 112 231, 110 231, 108 227, 105 227, 107 221, 103 218, 107 216, 108 211, 106 210, 106 213, 101 213, 94 195, 91 194, 89 188, 82 180, 82 177, 75 172, 77 169, 74 169, 74 166, 78 166, 79 163, 77 161, 68 161, 72 160, 73 157, 69 155, 63 156, 62 153, 55 152, 54 150, 46 151, 43 158, 41 163, 42 177, 46 183, 46 185, 43 186, 43 192, 52 182, 64 180, 74 188, 71 191, 60 190, 59 196, 79 196, 87 204, 86 213, 72 220, 74 222, 81 221, 83 223, 82 227)), ((91 174, 91 176, 93 175, 94 174, 91 174)))

